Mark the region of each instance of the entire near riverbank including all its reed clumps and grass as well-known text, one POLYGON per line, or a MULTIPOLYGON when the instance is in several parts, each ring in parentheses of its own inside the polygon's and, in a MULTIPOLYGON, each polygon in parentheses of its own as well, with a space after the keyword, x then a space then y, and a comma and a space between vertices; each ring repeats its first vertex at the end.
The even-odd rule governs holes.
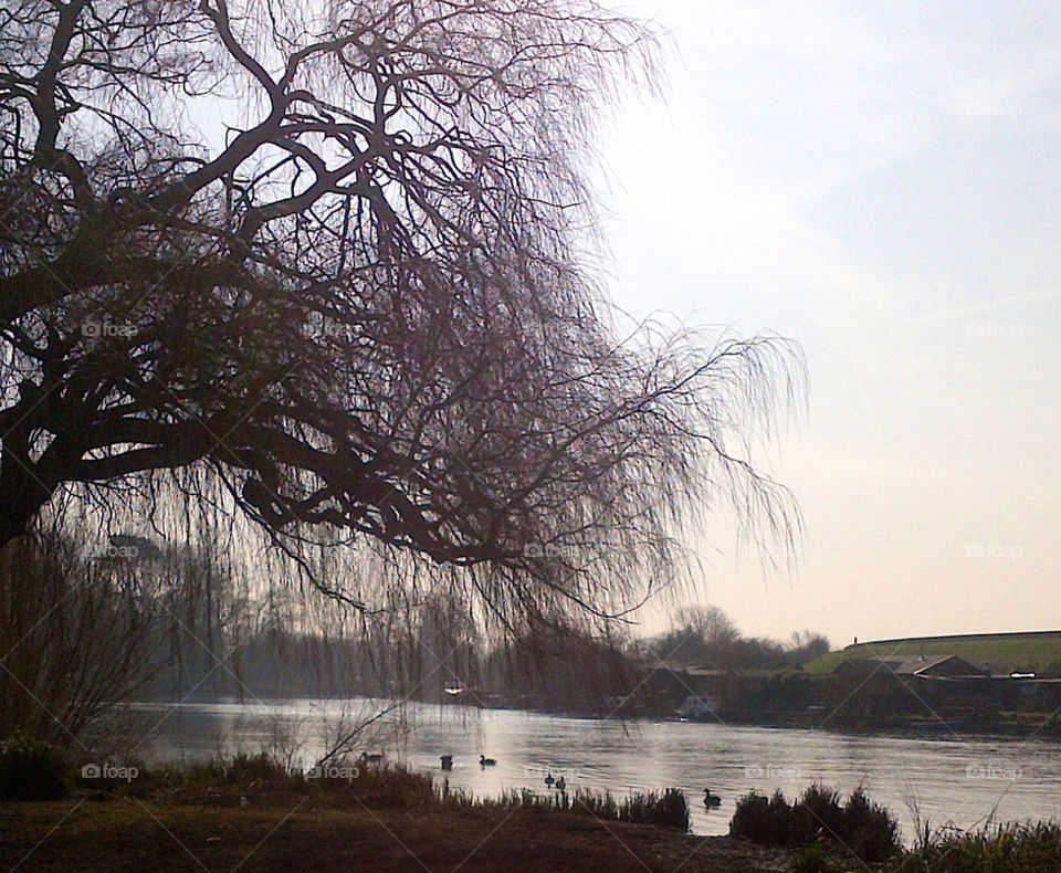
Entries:
POLYGON ((1053 873, 1061 825, 917 834, 861 789, 742 798, 732 837, 686 833, 675 790, 508 791, 475 799, 401 767, 309 775, 265 755, 187 768, 84 765, 31 741, 0 751, 0 869, 67 871, 660 871, 1053 873))

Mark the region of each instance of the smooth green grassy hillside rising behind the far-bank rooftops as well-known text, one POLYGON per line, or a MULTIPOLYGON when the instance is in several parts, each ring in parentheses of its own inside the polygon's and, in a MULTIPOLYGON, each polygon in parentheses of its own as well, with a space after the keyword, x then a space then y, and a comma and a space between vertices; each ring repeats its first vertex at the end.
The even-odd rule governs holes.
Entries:
POLYGON ((916 658, 955 654, 974 664, 990 666, 992 673, 1016 669, 1043 672, 1061 669, 1061 631, 1031 633, 981 633, 962 637, 916 637, 908 640, 876 640, 829 652, 806 665, 808 673, 831 672, 847 658, 916 658))

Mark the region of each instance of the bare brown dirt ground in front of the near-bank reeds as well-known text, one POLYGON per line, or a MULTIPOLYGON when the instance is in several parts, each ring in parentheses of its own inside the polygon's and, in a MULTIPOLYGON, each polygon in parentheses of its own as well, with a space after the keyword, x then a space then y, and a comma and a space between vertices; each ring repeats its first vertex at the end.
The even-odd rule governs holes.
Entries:
POLYGON ((395 811, 0 803, 0 871, 782 873, 782 852, 721 837, 528 810, 395 811))

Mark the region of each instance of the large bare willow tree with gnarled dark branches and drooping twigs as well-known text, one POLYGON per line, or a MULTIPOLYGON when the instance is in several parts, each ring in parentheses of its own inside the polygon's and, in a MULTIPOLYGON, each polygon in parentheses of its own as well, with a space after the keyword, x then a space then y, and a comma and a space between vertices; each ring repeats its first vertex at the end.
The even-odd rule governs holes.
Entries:
POLYGON ((586 266, 654 45, 591 0, 6 2, 0 544, 170 483, 512 620, 635 603, 719 504, 791 532, 749 450, 798 351, 622 334, 586 266))

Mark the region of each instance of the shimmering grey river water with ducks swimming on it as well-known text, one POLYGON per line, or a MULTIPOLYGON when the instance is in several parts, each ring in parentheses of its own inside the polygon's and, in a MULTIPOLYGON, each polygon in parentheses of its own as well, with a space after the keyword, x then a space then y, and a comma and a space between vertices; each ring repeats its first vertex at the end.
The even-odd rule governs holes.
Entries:
MULTIPOLYGON (((135 751, 153 760, 197 760, 237 749, 294 749, 301 766, 327 748, 344 717, 378 712, 380 701, 279 701, 253 704, 137 704, 145 723, 135 751)), ((749 790, 792 798, 819 780, 848 792, 862 785, 899 818, 904 839, 916 822, 974 828, 987 821, 1061 818, 1061 744, 1018 739, 911 739, 823 730, 728 727, 684 722, 565 718, 523 711, 410 704, 391 714, 369 751, 449 778, 454 788, 496 796, 507 788, 546 792, 546 774, 568 790, 681 788, 693 830, 727 832, 749 790), (440 756, 453 756, 443 774, 440 756), (481 767, 485 754, 497 764, 481 767), (722 797, 703 806, 703 789, 722 797)))

